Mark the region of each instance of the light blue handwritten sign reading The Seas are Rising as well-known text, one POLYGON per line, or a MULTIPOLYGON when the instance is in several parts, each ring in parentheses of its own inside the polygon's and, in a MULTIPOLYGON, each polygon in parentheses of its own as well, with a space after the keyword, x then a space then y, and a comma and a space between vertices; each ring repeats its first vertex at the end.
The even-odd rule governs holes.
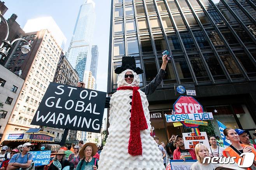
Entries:
POLYGON ((31 151, 35 166, 48 165, 51 158, 51 151, 31 151))

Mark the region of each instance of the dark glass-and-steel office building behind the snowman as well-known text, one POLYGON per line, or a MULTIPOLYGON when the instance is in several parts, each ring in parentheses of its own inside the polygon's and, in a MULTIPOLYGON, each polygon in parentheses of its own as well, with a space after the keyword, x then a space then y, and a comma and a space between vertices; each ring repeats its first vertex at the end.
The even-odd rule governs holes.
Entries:
MULTIPOLYGON (((162 52, 173 56, 163 82, 148 97, 151 125, 160 141, 186 131, 167 123, 174 84, 193 84, 196 100, 231 128, 256 128, 256 1, 112 0, 108 93, 117 89, 114 69, 122 56, 135 56, 144 70, 140 86, 158 73, 162 52), (217 113, 213 112, 217 110, 217 113)), ((215 127, 216 135, 219 130, 215 127)))

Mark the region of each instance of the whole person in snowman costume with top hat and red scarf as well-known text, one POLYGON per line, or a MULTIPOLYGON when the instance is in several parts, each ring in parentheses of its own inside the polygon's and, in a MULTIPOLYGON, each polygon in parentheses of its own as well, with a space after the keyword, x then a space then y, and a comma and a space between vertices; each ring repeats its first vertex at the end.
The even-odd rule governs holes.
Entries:
MULTIPOLYGON (((139 74, 135 58, 123 56, 122 66, 115 69, 117 92, 107 97, 109 135, 100 154, 98 170, 165 170, 163 158, 151 137, 151 122, 147 96, 160 85, 165 75, 167 56, 163 56, 160 71, 151 83, 139 88, 139 74)), ((77 83, 84 87, 83 82, 77 83)))

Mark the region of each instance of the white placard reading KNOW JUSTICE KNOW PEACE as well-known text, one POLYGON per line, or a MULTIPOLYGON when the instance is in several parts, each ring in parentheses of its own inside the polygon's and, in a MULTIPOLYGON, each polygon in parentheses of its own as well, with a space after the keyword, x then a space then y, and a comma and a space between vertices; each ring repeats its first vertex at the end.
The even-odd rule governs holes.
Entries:
POLYGON ((206 132, 200 132, 199 136, 195 133, 182 133, 185 149, 195 149, 196 144, 204 144, 207 148, 210 147, 206 132))

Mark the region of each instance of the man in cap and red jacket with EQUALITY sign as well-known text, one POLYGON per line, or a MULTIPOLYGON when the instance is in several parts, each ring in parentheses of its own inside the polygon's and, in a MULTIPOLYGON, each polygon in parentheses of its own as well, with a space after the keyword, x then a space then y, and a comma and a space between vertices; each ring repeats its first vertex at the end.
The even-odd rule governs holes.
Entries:
POLYGON ((181 135, 175 136, 177 149, 174 150, 174 160, 196 160, 194 149, 185 149, 184 141, 181 135))

